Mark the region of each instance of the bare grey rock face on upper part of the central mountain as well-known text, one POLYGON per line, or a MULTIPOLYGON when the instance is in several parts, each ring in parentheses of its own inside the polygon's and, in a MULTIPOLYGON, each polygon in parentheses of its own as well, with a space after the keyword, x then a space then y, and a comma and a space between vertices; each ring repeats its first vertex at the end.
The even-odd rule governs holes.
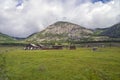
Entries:
POLYGON ((93 32, 77 24, 72 24, 68 22, 57 22, 47 27, 43 34, 45 33, 89 35, 92 34, 93 32))

